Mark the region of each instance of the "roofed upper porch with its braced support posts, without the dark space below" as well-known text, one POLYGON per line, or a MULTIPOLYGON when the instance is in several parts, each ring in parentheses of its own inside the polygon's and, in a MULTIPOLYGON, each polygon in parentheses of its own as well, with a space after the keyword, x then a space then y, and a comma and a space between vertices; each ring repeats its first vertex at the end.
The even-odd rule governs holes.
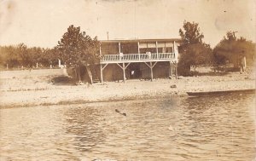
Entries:
POLYGON ((170 67, 175 67, 177 78, 177 39, 150 39, 150 40, 106 40, 102 41, 100 54, 101 82, 103 83, 104 69, 110 64, 115 64, 123 72, 125 83, 125 70, 131 64, 144 64, 148 66, 151 81, 154 78, 154 66, 158 62, 167 62, 170 67))

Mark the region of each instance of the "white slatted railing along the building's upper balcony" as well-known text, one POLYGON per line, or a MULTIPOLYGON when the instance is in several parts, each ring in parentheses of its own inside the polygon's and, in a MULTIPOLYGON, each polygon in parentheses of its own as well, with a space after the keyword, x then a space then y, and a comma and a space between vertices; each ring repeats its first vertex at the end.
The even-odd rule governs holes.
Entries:
POLYGON ((102 62, 108 61, 139 61, 139 60, 175 60, 174 53, 103 55, 102 62))

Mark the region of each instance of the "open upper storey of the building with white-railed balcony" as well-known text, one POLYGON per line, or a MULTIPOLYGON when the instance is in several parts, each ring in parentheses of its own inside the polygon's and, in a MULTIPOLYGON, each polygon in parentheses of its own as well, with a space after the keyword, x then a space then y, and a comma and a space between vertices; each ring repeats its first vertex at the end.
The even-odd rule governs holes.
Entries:
POLYGON ((101 64, 177 61, 179 39, 106 40, 101 42, 101 64))

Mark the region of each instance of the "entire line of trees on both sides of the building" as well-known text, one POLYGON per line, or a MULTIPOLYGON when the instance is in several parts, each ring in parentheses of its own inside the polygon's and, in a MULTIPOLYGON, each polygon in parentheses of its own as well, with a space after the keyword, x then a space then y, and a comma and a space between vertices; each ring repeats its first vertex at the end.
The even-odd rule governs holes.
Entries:
MULTIPOLYGON (((247 64, 253 64, 255 43, 244 37, 236 37, 236 32, 227 32, 212 49, 203 42, 204 35, 198 23, 184 21, 179 30, 181 46, 179 48, 178 73, 189 75, 191 66, 222 66, 233 63, 240 66, 241 58, 247 58, 247 64)), ((40 47, 28 48, 20 43, 15 46, 0 46, 1 68, 49 67, 57 66, 58 60, 67 66, 95 64, 100 60, 100 42, 80 31, 80 27, 69 26, 61 40, 52 49, 40 47)))

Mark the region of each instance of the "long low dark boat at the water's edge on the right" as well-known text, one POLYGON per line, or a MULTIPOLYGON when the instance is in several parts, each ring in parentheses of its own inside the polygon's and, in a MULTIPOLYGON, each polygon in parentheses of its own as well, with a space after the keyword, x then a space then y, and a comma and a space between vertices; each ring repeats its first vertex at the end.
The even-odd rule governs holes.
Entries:
POLYGON ((187 92, 189 96, 206 96, 206 95, 227 95, 227 94, 255 94, 255 89, 237 89, 237 90, 218 90, 204 92, 187 92))

